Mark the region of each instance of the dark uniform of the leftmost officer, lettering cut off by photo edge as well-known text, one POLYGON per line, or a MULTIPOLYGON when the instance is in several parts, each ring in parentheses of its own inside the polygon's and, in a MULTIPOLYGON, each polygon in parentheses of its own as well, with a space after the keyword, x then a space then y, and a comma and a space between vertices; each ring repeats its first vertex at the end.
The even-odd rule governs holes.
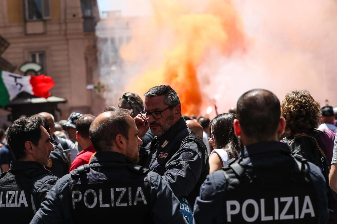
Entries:
POLYGON ((29 223, 57 180, 37 162, 11 162, 0 176, 0 223, 29 223))

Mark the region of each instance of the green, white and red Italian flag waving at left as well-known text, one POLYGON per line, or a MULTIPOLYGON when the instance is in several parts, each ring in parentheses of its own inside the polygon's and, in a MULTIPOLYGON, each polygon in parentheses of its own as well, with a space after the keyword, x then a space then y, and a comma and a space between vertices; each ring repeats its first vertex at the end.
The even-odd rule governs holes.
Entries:
POLYGON ((0 106, 9 104, 20 92, 48 98, 49 90, 54 85, 54 80, 49 76, 22 76, 0 70, 0 106))

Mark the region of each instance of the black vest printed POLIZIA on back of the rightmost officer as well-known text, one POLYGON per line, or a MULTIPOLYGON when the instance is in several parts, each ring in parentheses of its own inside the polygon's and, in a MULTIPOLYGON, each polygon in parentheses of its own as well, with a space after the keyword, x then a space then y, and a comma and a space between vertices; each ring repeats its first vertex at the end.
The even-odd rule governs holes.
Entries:
POLYGON ((225 223, 317 223, 317 196, 307 161, 284 156, 284 164, 275 167, 252 167, 240 158, 222 168, 225 223))

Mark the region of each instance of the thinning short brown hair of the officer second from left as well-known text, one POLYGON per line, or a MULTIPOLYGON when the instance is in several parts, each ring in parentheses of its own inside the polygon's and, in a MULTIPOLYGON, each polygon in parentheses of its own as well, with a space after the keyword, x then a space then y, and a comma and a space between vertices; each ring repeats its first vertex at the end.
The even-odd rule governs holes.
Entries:
POLYGON ((118 134, 128 138, 129 124, 127 116, 132 116, 131 111, 116 108, 114 111, 101 113, 92 122, 89 136, 97 152, 114 151, 114 141, 118 134))

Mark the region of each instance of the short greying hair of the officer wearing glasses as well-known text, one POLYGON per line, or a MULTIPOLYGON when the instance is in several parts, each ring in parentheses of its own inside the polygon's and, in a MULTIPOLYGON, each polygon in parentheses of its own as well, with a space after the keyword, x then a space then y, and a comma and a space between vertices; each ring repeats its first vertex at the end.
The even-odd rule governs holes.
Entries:
POLYGON ((171 107, 181 105, 177 92, 169 85, 154 86, 144 96, 145 98, 164 96, 164 104, 171 107))

